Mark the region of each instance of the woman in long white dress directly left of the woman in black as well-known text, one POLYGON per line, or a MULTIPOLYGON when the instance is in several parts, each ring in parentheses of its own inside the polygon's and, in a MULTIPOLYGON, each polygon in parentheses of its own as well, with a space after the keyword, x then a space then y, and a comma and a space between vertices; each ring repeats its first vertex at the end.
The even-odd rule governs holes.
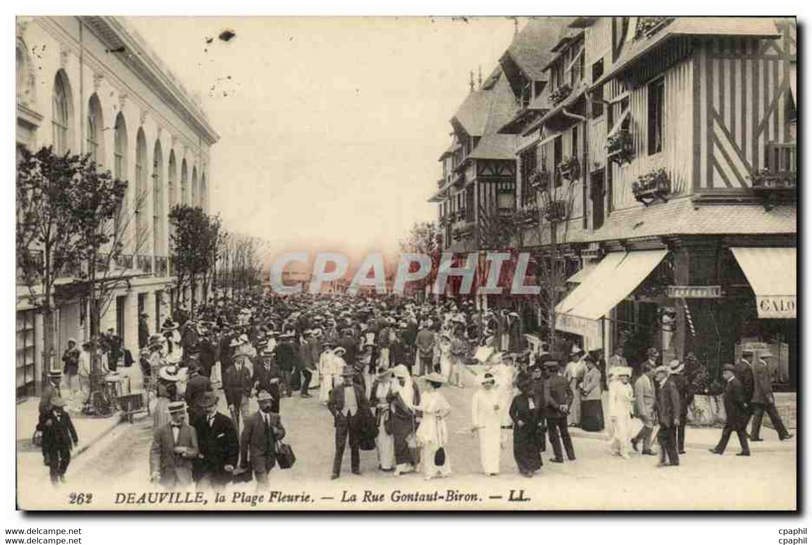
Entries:
POLYGON ((501 448, 502 407, 499 406, 499 390, 495 386, 496 377, 486 372, 482 375, 482 388, 473 394, 471 402, 471 431, 479 436, 482 471, 489 477, 499 474, 501 448))

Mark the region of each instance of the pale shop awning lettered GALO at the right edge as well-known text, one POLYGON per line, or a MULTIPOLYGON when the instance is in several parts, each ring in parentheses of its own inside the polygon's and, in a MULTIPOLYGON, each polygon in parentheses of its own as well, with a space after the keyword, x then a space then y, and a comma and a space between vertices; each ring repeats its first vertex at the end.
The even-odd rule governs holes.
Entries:
POLYGON ((796 317, 795 248, 731 248, 756 294, 759 318, 796 317))

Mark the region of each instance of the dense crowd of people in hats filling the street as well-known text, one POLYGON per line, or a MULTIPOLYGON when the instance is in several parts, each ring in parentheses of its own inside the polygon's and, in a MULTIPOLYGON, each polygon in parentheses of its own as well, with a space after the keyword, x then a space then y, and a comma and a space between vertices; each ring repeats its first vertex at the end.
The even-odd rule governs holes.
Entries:
MULTIPOLYGON (((326 406, 333 418, 334 479, 347 444, 354 474, 361 473, 361 450, 374 450, 381 471, 450 475, 452 407, 444 392, 469 386, 477 388, 470 432, 489 476, 499 474, 511 434, 516 468, 527 477, 542 468, 548 440, 551 462, 576 460, 572 427, 606 431, 609 452, 626 459, 629 448, 658 455, 654 438, 659 466, 678 466, 685 453, 693 396, 683 363, 659 363, 654 348, 634 369, 621 350, 608 361, 601 350, 577 344, 566 353, 551 350, 524 333, 516 312, 480 311, 471 302, 243 294, 201 305, 194 315, 180 309, 161 333, 140 328, 139 337, 139 367, 154 398, 150 478, 162 487, 222 489, 251 479, 266 487, 280 449, 290 450, 282 441, 282 409, 294 395, 317 397, 313 406, 326 406), (221 396, 227 414, 218 411, 221 396), (641 423, 637 434, 633 418, 641 423)), ((110 368, 121 357, 120 343, 113 339, 106 351, 102 364, 110 368), (119 350, 116 358, 110 347, 119 350)), ((723 453, 736 431, 741 454, 749 455, 745 427, 755 415, 750 440, 760 440, 765 411, 780 439, 792 437, 775 410, 762 357, 745 351, 740 363, 724 368, 728 426, 712 452, 723 453)), ((63 362, 71 396, 61 397, 61 373, 54 373, 41 400, 43 455, 54 483, 64 479, 78 441, 64 409, 81 401, 83 375, 76 369, 88 359, 69 343, 63 362)))

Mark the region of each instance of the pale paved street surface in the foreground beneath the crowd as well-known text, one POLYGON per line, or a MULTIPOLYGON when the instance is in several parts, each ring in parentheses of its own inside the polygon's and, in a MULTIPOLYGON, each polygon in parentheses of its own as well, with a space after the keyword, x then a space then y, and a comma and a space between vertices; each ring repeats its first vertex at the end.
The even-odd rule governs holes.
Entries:
MULTIPOLYGON (((317 398, 292 397, 283 401, 283 423, 287 439, 296 451, 292 470, 274 469, 272 490, 286 494, 317 493, 312 509, 376 509, 375 504, 361 503, 364 491, 382 494, 387 503, 396 490, 408 492, 455 489, 464 494, 503 496, 496 503, 507 502, 511 490, 524 489, 531 501, 505 503, 503 509, 794 509, 796 504, 796 452, 783 450, 755 451, 750 458, 736 457, 738 444, 733 439, 724 457, 716 457, 706 448, 688 448, 679 468, 655 467, 655 457, 635 455, 624 461, 607 453, 603 440, 576 437, 577 461, 552 464, 550 451, 544 453, 545 465, 534 478, 521 477, 516 471, 510 440, 502 451, 502 473, 493 478, 481 474, 478 445, 466 431, 470 421, 470 399, 473 388, 444 390, 453 407, 448 420, 451 445, 448 453, 453 469, 451 478, 425 483, 421 474, 395 477, 377 470, 374 452, 361 452, 361 476, 349 472, 349 454, 345 453, 342 477, 330 481, 333 457, 332 419, 317 398), (749 475, 753 475, 750 477, 749 475), (343 491, 355 493, 356 503, 340 503, 343 491), (322 500, 330 497, 332 500, 322 500)), ((315 391, 314 391, 315 392, 315 391)), ((222 402, 221 402, 222 410, 222 402)), ((95 492, 93 507, 103 509, 114 500, 114 492, 154 491, 147 482, 149 475, 150 418, 123 424, 98 444, 77 458, 68 471, 68 483, 54 495, 54 504, 65 505, 70 492, 95 492)), ((694 436, 707 437, 711 431, 688 431, 689 444, 694 436)), ((719 430, 713 431, 718 437, 719 430)), ((763 445, 763 444, 762 444, 763 445)), ((794 447, 794 441, 793 441, 794 447)), ((28 457, 27 460, 36 460, 28 457)), ((50 491, 45 467, 20 468, 21 494, 41 495, 50 491)), ((253 484, 228 489, 228 499, 235 491, 253 493, 253 484)), ((39 496, 41 498, 41 496, 39 496)), ((210 497, 210 496, 209 496, 210 497)), ((21 498, 24 500, 24 497, 21 498)), ((240 504, 222 504, 224 509, 240 509, 240 504)), ((90 507, 90 506, 87 506, 90 507)), ((213 504, 207 509, 216 509, 213 504)), ((296 509, 297 504, 273 504, 270 509, 296 509)), ((404 504, 420 509, 482 509, 477 502, 439 501, 404 504)), ((158 509, 188 509, 183 504, 158 509)), ((262 509, 268 509, 263 507, 262 509)))

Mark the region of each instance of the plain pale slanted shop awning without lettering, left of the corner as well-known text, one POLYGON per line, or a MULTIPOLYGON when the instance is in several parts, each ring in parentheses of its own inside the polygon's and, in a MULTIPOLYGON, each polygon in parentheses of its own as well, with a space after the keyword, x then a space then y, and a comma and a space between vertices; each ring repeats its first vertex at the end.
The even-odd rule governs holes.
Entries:
POLYGON ((667 253, 667 250, 646 250, 607 255, 581 285, 555 307, 556 313, 576 320, 599 320, 628 297, 667 253))

